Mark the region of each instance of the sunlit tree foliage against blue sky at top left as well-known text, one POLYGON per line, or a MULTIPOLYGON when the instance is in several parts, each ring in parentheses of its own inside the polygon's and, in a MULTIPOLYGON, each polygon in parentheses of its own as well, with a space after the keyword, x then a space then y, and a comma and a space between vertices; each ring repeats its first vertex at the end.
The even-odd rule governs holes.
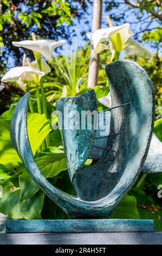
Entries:
POLYGON ((12 47, 12 41, 31 39, 27 28, 40 38, 67 39, 71 42, 75 35, 74 18, 85 15, 88 1, 0 1, 0 46, 3 49, 2 60, 9 56, 20 60, 22 50, 12 47), (14 49, 14 51, 13 51, 14 49))

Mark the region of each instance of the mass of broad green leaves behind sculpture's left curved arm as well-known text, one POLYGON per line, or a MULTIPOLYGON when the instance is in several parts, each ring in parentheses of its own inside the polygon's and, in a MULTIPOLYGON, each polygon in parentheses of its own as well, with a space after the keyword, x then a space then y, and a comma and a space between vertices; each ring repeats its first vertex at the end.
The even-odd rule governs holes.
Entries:
MULTIPOLYGON (((31 179, 15 149, 12 148, 10 141, 12 113, 11 108, 3 113, 0 119, 0 180, 3 186, 0 212, 11 218, 41 218, 44 193, 31 179)), ((59 174, 67 169, 62 147, 50 147, 47 152, 37 153, 50 131, 49 122, 44 114, 28 113, 28 133, 36 162, 44 176, 51 178, 51 182, 55 184, 59 174)))

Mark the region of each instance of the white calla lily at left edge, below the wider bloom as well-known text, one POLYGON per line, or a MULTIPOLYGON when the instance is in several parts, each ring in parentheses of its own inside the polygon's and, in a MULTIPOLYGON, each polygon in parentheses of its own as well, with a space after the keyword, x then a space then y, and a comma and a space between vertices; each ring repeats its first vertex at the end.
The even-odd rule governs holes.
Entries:
POLYGON ((45 75, 44 72, 38 69, 31 69, 29 66, 17 66, 10 69, 3 77, 2 82, 17 82, 17 84, 25 90, 26 83, 25 81, 32 81, 35 78, 35 75, 42 77, 45 75))

